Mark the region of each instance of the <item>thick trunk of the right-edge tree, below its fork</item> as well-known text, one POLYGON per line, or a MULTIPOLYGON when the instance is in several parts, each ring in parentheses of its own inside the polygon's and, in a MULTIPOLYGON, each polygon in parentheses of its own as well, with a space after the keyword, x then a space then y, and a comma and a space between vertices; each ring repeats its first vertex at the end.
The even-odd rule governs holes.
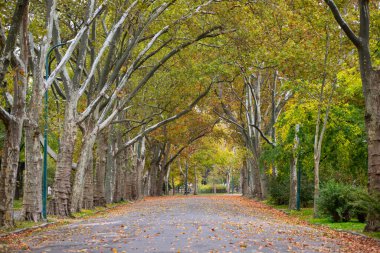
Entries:
MULTIPOLYGON (((366 98, 368 190, 380 196, 380 70, 372 70, 366 98)), ((380 214, 370 210, 365 231, 380 231, 380 214)))

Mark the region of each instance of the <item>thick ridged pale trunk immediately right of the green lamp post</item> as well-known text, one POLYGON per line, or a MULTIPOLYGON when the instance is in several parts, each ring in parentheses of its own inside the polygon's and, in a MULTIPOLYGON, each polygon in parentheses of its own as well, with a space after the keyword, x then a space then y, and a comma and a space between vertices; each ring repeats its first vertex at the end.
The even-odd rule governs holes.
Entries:
POLYGON ((69 99, 66 101, 63 133, 60 136, 60 147, 55 171, 52 198, 49 202, 48 213, 58 216, 71 215, 71 170, 77 125, 75 122, 75 104, 69 99))

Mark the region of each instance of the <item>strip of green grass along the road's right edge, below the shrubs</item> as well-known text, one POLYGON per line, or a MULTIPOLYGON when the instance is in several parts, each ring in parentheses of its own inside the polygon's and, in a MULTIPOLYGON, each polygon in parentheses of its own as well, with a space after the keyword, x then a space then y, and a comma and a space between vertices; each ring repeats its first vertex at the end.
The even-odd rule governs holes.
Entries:
POLYGON ((314 218, 313 208, 301 208, 300 211, 297 211, 297 210, 288 210, 287 209, 288 207, 285 205, 276 206, 276 205, 270 204, 268 201, 264 201, 264 203, 274 207, 275 209, 285 211, 290 216, 297 217, 300 220, 305 220, 311 224, 324 225, 334 230, 351 231, 351 232, 360 233, 372 238, 380 239, 380 232, 363 232, 366 224, 361 223, 356 219, 352 219, 349 222, 333 222, 330 218, 326 218, 326 217, 314 218))

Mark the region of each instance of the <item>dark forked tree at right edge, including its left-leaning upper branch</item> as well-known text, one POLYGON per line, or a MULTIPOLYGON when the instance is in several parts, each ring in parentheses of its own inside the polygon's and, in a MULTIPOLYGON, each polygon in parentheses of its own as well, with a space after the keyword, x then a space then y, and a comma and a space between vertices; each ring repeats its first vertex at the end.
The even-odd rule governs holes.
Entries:
MULTIPOLYGON (((369 0, 359 0, 360 24, 356 35, 344 20, 333 0, 325 0, 336 22, 345 32, 359 54, 359 67, 365 99, 365 123, 368 139, 368 190, 380 193, 380 70, 372 66, 370 53, 369 0)), ((373 210, 368 215, 365 231, 380 231, 380 214, 373 210)))

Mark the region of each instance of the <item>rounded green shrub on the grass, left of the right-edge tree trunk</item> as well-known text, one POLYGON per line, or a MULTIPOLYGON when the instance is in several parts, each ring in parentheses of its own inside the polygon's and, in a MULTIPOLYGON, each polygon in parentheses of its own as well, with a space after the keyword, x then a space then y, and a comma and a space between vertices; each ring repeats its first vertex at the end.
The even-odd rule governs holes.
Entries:
POLYGON ((330 181, 321 189, 319 211, 330 216, 334 222, 349 221, 355 213, 353 203, 356 195, 357 190, 353 186, 330 181))

